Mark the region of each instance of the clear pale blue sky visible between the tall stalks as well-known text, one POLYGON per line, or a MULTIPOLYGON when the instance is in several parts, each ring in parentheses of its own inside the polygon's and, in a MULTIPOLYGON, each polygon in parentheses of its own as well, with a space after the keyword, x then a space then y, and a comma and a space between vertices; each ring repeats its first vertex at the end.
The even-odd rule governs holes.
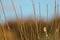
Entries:
MULTIPOLYGON (((54 0, 39 0, 40 1, 40 10, 41 10, 41 15, 43 19, 46 19, 46 4, 48 3, 48 18, 51 19, 54 16, 54 0)), ((34 12, 33 12, 33 7, 32 7, 32 1, 31 0, 13 0, 16 12, 19 18, 21 18, 21 11, 20 11, 20 5, 22 6, 22 11, 23 11, 23 17, 24 18, 29 18, 33 17, 34 12)), ((57 4, 60 5, 60 0, 56 1, 57 4)), ((11 0, 2 0, 6 18, 7 19, 13 19, 16 17, 14 9, 12 7, 11 0)), ((35 4, 35 9, 36 9, 36 16, 39 18, 39 4, 38 0, 34 0, 35 4)), ((60 11, 60 7, 59 7, 60 11)), ((60 13, 60 12, 59 12, 60 13)), ((1 19, 4 20, 4 15, 2 12, 2 7, 0 4, 0 15, 1 19)))

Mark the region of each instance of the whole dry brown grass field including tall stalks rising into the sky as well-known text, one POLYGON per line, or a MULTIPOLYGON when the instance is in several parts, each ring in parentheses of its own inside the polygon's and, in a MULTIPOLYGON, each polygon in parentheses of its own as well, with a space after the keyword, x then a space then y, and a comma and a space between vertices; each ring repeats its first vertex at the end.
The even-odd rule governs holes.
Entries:
MULTIPOLYGON (((22 21, 19 21, 14 2, 12 0, 11 3, 16 15, 17 21, 15 22, 6 21, 5 9, 3 7, 4 5, 0 0, 2 12, 4 15, 4 19, 6 21, 4 25, 0 24, 0 40, 60 40, 60 18, 56 18, 56 0, 54 3, 54 17, 56 19, 53 19, 50 22, 48 22, 48 4, 46 5, 47 22, 44 22, 37 21, 36 19, 36 9, 34 0, 32 0, 32 7, 35 19, 34 21, 33 20, 23 21, 22 7, 20 7, 22 21)), ((41 18, 40 2, 38 3, 38 5, 39 14, 41 18)))

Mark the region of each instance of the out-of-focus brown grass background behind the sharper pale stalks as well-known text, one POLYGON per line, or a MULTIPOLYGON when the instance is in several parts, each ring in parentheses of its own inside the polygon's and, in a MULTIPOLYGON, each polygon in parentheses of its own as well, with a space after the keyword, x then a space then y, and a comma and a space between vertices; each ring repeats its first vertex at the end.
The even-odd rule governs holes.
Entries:
MULTIPOLYGON (((57 23, 59 24, 60 21, 57 20, 57 23)), ((21 30, 21 28, 20 28, 21 25, 19 26, 20 30, 18 30, 16 22, 8 22, 8 24, 10 26, 10 34, 11 35, 8 34, 9 31, 8 31, 7 26, 4 25, 4 29, 5 29, 5 34, 6 34, 7 40, 22 40, 21 39, 21 35, 22 35, 23 40, 25 40, 25 35, 26 35, 27 40, 38 40, 37 39, 37 32, 36 32, 35 22, 33 22, 33 21, 30 21, 30 22, 26 21, 24 23, 25 29, 26 29, 25 30, 26 34, 24 33, 23 26, 22 26, 23 30, 21 30), (31 28, 32 28, 32 30, 31 30, 31 28), (23 32, 21 32, 21 31, 23 31, 23 32), (20 32, 21 32, 21 34, 20 34, 20 32)), ((55 27, 54 21, 53 21, 52 29, 51 29, 52 22, 50 22, 48 24, 48 27, 46 27, 46 25, 47 24, 45 22, 41 21, 41 26, 40 26, 40 21, 38 22, 38 33, 40 34, 39 35, 40 36, 40 40, 55 40, 55 36, 57 36, 57 35, 59 37, 59 38, 56 37, 57 40, 60 40, 60 24, 59 24, 59 31, 58 31, 58 33, 56 32, 56 28, 57 27, 55 27), (47 34, 48 34, 48 38, 47 39, 46 39, 46 34, 45 34, 44 30, 43 30, 44 27, 46 27, 46 29, 47 29, 47 34), (56 32, 56 35, 55 35, 55 32, 56 32)), ((0 27, 0 40, 4 40, 4 35, 3 35, 2 30, 1 30, 1 27, 0 27)))

